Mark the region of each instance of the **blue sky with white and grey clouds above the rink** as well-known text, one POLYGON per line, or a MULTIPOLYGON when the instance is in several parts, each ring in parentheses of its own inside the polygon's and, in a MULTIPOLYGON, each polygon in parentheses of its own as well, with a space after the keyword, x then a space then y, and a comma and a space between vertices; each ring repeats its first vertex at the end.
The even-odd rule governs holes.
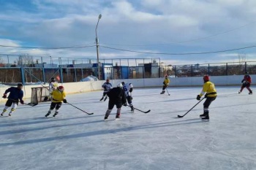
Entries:
POLYGON ((96 60, 97 31, 99 59, 161 58, 178 65, 237 62, 242 55, 256 61, 255 0, 0 3, 0 54, 96 60))

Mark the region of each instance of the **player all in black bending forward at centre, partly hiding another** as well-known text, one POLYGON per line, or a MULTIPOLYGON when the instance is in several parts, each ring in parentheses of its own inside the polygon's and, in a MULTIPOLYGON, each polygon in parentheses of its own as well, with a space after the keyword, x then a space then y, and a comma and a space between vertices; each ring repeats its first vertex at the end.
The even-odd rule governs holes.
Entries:
POLYGON ((125 97, 125 93, 124 90, 122 88, 122 84, 118 83, 116 88, 112 88, 109 92, 108 92, 108 97, 109 97, 109 101, 108 101, 108 109, 107 112, 105 114, 104 120, 108 119, 108 116, 110 115, 110 112, 112 111, 113 107, 116 105, 116 119, 120 118, 121 115, 121 106, 127 106, 127 98, 125 97))

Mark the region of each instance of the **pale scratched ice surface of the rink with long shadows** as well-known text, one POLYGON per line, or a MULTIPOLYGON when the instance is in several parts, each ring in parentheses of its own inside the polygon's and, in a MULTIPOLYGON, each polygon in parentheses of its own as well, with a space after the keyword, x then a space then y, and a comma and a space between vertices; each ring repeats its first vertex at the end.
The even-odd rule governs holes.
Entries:
MULTIPOLYGON (((252 86, 252 90, 255 86, 252 86)), ((203 101, 191 109, 201 87, 135 88, 133 104, 145 114, 116 108, 104 121, 108 100, 102 91, 67 96, 86 115, 63 104, 45 118, 50 103, 18 105, 12 117, 0 117, 1 169, 189 169, 234 170, 256 167, 256 96, 240 87, 217 87, 210 121, 202 121, 203 101), (52 113, 53 115, 53 113, 52 113)), ((26 100, 29 103, 29 100, 26 100)), ((0 108, 4 103, 0 104, 0 108)), ((10 110, 10 109, 9 109, 10 110)), ((9 111, 8 110, 8 111, 9 111)))

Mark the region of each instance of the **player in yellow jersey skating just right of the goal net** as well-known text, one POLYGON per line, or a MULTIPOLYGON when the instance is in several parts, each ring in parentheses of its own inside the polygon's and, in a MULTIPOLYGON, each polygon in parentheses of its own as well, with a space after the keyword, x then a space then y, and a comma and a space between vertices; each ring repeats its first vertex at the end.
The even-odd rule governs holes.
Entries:
POLYGON ((62 101, 67 104, 67 100, 66 98, 66 93, 64 91, 64 87, 61 85, 59 86, 56 90, 53 90, 52 93, 52 102, 50 104, 50 109, 48 111, 48 113, 45 115, 45 117, 48 117, 48 115, 50 115, 50 112, 55 108, 55 113, 53 115, 53 117, 55 117, 56 115, 58 115, 59 113, 59 108, 61 107, 62 101))

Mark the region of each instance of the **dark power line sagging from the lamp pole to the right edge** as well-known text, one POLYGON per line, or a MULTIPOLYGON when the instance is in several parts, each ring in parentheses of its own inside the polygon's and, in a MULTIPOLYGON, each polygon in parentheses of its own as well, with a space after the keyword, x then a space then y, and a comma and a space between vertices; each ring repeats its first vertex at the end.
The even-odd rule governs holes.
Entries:
POLYGON ((135 51, 135 50, 124 50, 120 48, 113 48, 113 47, 107 47, 107 46, 102 46, 100 47, 105 47, 111 50, 121 50, 121 51, 127 51, 127 52, 132 52, 132 53, 144 53, 144 54, 160 54, 160 55, 200 55, 200 54, 211 54, 211 53, 223 53, 223 52, 228 52, 228 51, 235 51, 235 50, 243 50, 247 48, 252 48, 256 47, 255 45, 249 46, 249 47, 240 47, 240 48, 235 48, 235 49, 229 49, 229 50, 219 50, 219 51, 211 51, 211 52, 200 52, 200 53, 151 53, 151 52, 143 52, 143 51, 135 51))

